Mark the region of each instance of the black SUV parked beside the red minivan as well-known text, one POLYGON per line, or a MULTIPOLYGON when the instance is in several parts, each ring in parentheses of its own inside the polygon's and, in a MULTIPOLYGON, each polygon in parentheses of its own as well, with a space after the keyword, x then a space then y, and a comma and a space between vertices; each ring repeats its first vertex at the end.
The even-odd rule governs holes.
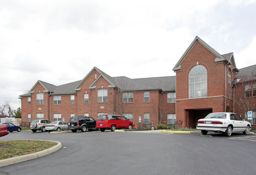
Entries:
POLYGON ((76 133, 77 130, 81 130, 85 132, 86 129, 91 131, 96 127, 96 120, 92 117, 87 116, 78 116, 78 117, 71 117, 68 122, 68 129, 71 129, 73 133, 76 133))

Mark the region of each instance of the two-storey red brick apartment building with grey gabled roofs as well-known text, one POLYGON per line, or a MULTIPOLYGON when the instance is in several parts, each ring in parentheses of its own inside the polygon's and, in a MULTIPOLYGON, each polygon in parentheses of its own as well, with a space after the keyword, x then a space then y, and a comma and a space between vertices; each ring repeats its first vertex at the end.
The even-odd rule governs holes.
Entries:
MULTIPOLYGON (((243 73, 255 68, 243 68, 243 73)), ((173 71, 176 76, 130 79, 111 77, 94 67, 82 80, 65 85, 37 81, 28 94, 20 95, 22 124, 42 118, 67 122, 72 116, 124 114, 135 127, 140 127, 141 116, 141 122, 154 125, 182 120, 182 127, 195 128, 197 120, 210 112, 236 112, 235 89, 247 87, 248 92, 241 83, 245 79, 236 79, 239 70, 233 53, 220 55, 199 37, 173 71)), ((254 89, 252 83, 248 98, 256 96, 254 89)), ((244 117, 244 111, 237 112, 244 117)), ((251 122, 256 124, 256 112, 251 122)))

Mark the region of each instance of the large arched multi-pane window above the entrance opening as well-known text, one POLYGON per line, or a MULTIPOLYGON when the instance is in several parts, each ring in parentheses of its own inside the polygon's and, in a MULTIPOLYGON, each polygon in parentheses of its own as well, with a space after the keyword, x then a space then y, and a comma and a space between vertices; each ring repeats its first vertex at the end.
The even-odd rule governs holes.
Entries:
POLYGON ((207 97, 207 70, 203 65, 194 66, 189 72, 189 98, 207 97))

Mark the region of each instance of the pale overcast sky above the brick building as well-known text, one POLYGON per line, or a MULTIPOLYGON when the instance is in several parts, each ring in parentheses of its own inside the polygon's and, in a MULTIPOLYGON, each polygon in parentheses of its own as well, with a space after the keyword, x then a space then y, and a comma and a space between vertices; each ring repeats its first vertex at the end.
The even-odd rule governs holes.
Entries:
POLYGON ((256 0, 1 0, 0 105, 37 80, 62 85, 96 66, 109 76, 175 76, 195 37, 237 68, 256 64, 256 0))

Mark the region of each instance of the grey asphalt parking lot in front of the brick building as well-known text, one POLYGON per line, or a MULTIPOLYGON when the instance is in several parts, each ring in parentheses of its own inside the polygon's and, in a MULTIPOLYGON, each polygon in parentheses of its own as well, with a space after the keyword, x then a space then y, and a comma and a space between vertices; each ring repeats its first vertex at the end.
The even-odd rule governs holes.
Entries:
POLYGON ((13 132, 0 140, 56 140, 45 157, 0 168, 2 174, 255 174, 256 136, 234 133, 91 131, 13 132))

